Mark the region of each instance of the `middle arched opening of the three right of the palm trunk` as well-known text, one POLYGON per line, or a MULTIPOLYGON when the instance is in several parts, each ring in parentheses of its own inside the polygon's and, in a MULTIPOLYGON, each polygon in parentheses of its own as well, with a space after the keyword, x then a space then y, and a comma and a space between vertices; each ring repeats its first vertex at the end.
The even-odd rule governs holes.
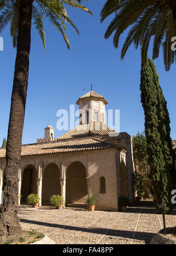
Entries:
POLYGON ((60 195, 60 190, 60 169, 55 163, 50 163, 43 170, 42 205, 49 205, 49 198, 60 195))

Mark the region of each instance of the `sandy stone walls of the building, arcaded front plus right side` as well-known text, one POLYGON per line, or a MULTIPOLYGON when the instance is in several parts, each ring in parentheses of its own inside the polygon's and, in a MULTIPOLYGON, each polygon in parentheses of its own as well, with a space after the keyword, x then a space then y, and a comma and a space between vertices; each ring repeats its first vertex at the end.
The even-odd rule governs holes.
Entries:
MULTIPOLYGON (((110 137, 109 135, 107 135, 97 138, 110 142, 114 145, 114 148, 22 157, 19 167, 19 194, 21 194, 22 172, 26 167, 28 167, 28 165, 33 165, 37 172, 38 194, 39 197, 42 198, 42 182, 43 187, 47 187, 45 182, 48 182, 50 187, 50 179, 52 179, 53 177, 51 171, 51 177, 48 176, 46 181, 42 180, 45 173, 45 168, 49 164, 55 164, 60 170, 58 172, 57 181, 56 179, 55 181, 58 183, 60 194, 62 194, 63 197, 66 198, 67 169, 73 162, 81 162, 86 169, 86 175, 84 175, 84 178, 86 178, 87 182, 87 195, 85 195, 85 197, 97 197, 97 208, 99 208, 100 210, 117 211, 117 201, 120 196, 120 191, 122 191, 122 189, 124 190, 125 187, 127 189, 128 199, 130 201, 133 201, 132 174, 134 166, 133 148, 131 143, 132 138, 126 132, 121 132, 117 137, 110 137), (124 162, 124 165, 126 167, 126 173, 124 174, 125 178, 122 177, 122 172, 120 175, 120 163, 122 161, 124 162), (106 193, 100 192, 101 177, 105 178, 106 193), (123 181, 123 184, 120 184, 120 181, 123 181)), ((2 170, 5 168, 5 159, 0 160, 1 190, 2 170)), ((123 192, 123 194, 125 194, 125 191, 123 192)), ((85 202, 85 200, 82 200, 82 202, 85 202)))

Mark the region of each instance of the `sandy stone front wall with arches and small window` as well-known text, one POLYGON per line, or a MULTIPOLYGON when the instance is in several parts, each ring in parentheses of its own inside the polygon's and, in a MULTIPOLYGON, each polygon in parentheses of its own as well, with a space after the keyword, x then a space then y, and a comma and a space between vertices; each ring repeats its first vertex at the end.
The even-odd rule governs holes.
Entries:
MULTIPOLYGON (((101 149, 92 151, 69 152, 65 154, 48 154, 34 155, 22 157, 19 167, 19 194, 21 194, 22 173, 29 165, 33 165, 37 172, 38 195, 42 198, 42 182, 45 184, 43 175, 45 168, 49 164, 56 164, 60 170, 58 174, 58 188, 60 186, 60 194, 66 198, 66 174, 67 169, 73 162, 81 162, 86 169, 87 196, 97 197, 96 208, 99 210, 118 210, 117 205, 117 165, 116 154, 120 155, 120 151, 116 148, 101 149), (104 177, 106 181, 106 193, 100 193, 100 178, 104 177)), ((120 159, 120 157, 119 157, 120 159)), ((120 161, 120 160, 119 160, 120 161)), ((0 177, 2 177, 2 169, 5 168, 5 159, 2 160, 0 166, 0 177)), ((52 178, 52 172, 51 177, 52 178)), ((47 181, 46 181, 47 182, 47 181)), ((50 189, 50 182, 48 178, 50 189)), ((2 178, 0 181, 2 187, 2 178)), ((46 185, 45 185, 46 187, 46 185)))

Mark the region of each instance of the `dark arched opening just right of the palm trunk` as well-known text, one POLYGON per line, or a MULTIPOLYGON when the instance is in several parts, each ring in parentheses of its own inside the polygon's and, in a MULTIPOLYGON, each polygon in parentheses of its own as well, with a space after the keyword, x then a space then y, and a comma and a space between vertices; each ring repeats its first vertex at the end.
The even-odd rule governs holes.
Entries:
POLYGON ((22 170, 22 186, 21 186, 21 202, 26 203, 26 199, 30 194, 37 194, 37 171, 36 168, 29 164, 22 170))

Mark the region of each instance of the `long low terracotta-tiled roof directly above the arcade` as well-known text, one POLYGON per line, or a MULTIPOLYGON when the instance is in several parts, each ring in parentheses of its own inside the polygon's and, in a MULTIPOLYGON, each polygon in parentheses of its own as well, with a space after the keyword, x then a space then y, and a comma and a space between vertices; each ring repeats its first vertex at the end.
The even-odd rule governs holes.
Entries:
MULTIPOLYGON (((21 156, 55 154, 73 151, 112 148, 113 145, 96 138, 82 138, 22 145, 21 156)), ((0 158, 5 158, 5 148, 0 148, 0 158)))

